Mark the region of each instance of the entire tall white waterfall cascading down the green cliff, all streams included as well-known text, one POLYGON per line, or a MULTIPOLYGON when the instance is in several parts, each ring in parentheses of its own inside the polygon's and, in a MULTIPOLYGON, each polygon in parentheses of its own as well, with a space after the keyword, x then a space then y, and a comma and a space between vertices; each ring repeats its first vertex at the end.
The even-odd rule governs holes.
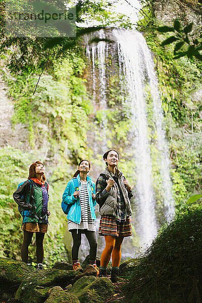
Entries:
MULTIPOLYGON (((130 143, 126 149, 130 150, 131 154, 134 198, 138 210, 134 212, 131 222, 140 238, 139 245, 149 244, 157 234, 159 223, 156 206, 157 193, 154 189, 155 185, 157 187, 157 181, 153 175, 154 155, 151 151, 151 126, 148 122, 148 98, 151 100, 155 125, 153 130, 155 143, 153 144, 158 151, 156 170, 161 179, 158 181, 158 190, 162 197, 163 216, 168 221, 174 214, 164 117, 151 52, 143 35, 132 30, 107 28, 87 35, 85 41, 86 52, 91 61, 91 91, 93 99, 96 95, 97 102, 99 100, 100 108, 107 109, 106 91, 110 86, 108 78, 112 69, 116 70, 119 77, 120 94, 125 97, 123 107, 128 111, 128 119, 131 120, 128 132, 130 143), (91 42, 95 37, 100 41, 91 42), (106 37, 109 42, 102 40, 106 37), (107 64, 110 59, 113 67, 107 64), (138 220, 136 220, 137 216, 138 220)), ((105 119, 105 125, 107 125, 107 118, 105 119)), ((129 255, 129 250, 125 251, 125 256, 129 255)))

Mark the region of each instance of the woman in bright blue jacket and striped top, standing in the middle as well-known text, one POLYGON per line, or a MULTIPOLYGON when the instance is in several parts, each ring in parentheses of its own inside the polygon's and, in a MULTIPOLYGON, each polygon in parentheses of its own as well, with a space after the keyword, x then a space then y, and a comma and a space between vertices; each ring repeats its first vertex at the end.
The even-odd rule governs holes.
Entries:
POLYGON ((89 264, 96 270, 97 238, 95 233, 95 184, 87 175, 90 170, 90 162, 81 160, 78 170, 68 182, 63 194, 63 203, 71 205, 67 219, 68 230, 72 233, 72 262, 73 269, 81 269, 78 262, 78 252, 81 245, 81 233, 84 233, 89 245, 89 264))

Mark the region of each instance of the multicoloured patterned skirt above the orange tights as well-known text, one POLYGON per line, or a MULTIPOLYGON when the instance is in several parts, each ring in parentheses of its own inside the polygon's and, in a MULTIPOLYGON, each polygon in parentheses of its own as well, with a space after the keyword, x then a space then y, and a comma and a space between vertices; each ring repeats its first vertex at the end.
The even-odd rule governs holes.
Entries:
POLYGON ((99 222, 100 236, 117 236, 129 237, 132 236, 132 228, 130 218, 124 222, 119 222, 111 216, 102 216, 99 222))

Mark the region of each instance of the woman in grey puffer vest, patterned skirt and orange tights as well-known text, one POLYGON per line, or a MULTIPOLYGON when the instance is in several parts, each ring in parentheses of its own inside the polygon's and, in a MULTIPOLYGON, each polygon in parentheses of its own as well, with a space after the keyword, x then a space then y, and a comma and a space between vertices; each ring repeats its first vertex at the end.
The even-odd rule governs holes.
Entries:
POLYGON ((99 235, 105 236, 106 242, 101 255, 99 276, 106 276, 112 256, 111 280, 116 282, 121 261, 121 244, 124 237, 132 235, 129 216, 132 215, 130 200, 133 194, 130 183, 117 168, 118 152, 108 150, 103 159, 106 169, 96 181, 96 202, 101 215, 99 235))

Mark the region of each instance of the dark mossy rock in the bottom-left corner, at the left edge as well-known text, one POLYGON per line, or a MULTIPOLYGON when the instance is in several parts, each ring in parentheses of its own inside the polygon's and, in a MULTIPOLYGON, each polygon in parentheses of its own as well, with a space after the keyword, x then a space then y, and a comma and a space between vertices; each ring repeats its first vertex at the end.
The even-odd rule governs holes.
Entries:
POLYGON ((23 277, 32 271, 32 268, 24 262, 0 258, 0 291, 9 288, 16 291, 23 277))

